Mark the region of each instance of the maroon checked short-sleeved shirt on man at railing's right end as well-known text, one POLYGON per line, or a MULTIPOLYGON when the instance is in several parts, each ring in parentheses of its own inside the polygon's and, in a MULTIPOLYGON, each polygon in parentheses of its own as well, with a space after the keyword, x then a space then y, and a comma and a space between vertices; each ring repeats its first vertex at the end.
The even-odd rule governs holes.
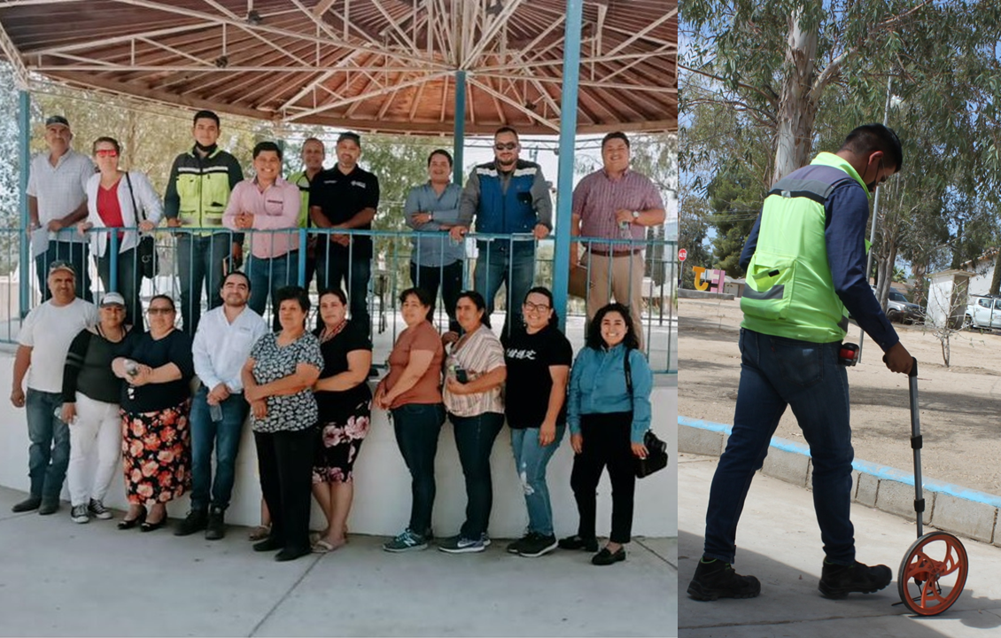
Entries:
MULTIPOLYGON (((619 179, 612 179, 604 168, 585 176, 574 188, 572 212, 581 218, 582 237, 606 239, 630 238, 643 240, 646 226, 630 224, 630 235, 624 237, 616 221, 616 210, 650 210, 664 208, 664 199, 653 181, 635 170, 626 170, 619 179)), ((594 242, 591 248, 608 251, 609 244, 594 242)), ((614 248, 629 252, 625 244, 614 248)))

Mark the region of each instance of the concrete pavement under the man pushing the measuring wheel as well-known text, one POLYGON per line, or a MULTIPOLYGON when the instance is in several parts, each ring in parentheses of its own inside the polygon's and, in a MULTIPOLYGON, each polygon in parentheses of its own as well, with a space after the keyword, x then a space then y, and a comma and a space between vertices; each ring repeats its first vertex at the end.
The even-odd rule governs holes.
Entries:
MULTIPOLYGON (((717 459, 680 455, 679 634, 683 638, 888 638, 1001 635, 1001 548, 962 539, 970 559, 966 588, 939 617, 919 618, 899 602, 897 582, 875 594, 833 601, 817 591, 824 554, 813 494, 763 476, 755 477, 738 528, 735 569, 757 576, 761 596, 750 600, 698 602, 686 590, 702 556, 706 504, 717 459)), ((852 504, 857 558, 889 565, 896 576, 915 540, 913 520, 852 504)))

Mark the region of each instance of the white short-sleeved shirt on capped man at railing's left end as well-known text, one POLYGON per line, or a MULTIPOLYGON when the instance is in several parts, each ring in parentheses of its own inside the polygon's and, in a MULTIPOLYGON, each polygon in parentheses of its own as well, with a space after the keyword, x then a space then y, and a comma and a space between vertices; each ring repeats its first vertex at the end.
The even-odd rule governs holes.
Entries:
MULTIPOLYGON (((31 159, 28 194, 38 198, 38 220, 42 226, 65 217, 87 200, 87 180, 93 174, 94 162, 90 157, 72 148, 56 160, 55 166, 49 162, 48 151, 31 159)), ((88 241, 73 227, 59 233, 50 232, 49 239, 56 239, 57 234, 60 241, 88 241)))

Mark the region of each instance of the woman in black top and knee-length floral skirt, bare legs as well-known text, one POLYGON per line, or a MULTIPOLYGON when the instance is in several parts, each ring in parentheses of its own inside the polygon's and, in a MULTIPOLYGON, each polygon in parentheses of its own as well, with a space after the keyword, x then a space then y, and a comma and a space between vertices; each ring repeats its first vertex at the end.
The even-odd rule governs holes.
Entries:
POLYGON ((347 318, 347 297, 339 288, 319 294, 319 339, 323 371, 313 386, 319 411, 319 442, 313 461, 312 493, 326 516, 326 530, 312 551, 323 554, 347 542, 347 515, 354 497, 352 469, 368 434, 372 394, 366 380, 372 345, 365 327, 347 318))

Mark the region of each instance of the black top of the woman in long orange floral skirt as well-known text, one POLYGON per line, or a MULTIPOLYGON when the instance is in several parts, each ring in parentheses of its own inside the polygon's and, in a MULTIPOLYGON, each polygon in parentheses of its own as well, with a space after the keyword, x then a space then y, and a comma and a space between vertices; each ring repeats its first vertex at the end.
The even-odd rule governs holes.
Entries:
POLYGON ((150 368, 175 364, 181 371, 180 379, 165 384, 132 387, 125 383, 121 397, 121 407, 125 412, 138 414, 166 410, 181 405, 191 397, 194 361, 191 357, 191 338, 187 333, 174 329, 159 340, 143 333, 133 342, 130 351, 122 356, 150 368))

